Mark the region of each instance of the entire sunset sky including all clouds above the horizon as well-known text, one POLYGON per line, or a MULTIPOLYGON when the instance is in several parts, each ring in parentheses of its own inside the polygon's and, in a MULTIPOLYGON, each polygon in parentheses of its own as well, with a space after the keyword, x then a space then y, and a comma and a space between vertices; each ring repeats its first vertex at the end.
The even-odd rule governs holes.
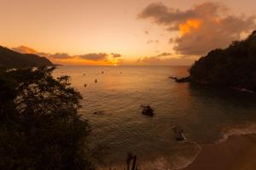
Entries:
POLYGON ((191 65, 254 29, 255 0, 0 0, 0 45, 64 65, 191 65))

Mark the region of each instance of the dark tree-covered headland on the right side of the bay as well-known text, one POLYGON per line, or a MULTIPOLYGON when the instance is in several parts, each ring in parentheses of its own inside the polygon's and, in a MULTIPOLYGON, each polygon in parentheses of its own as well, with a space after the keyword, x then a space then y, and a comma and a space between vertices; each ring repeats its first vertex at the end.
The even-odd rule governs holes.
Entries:
POLYGON ((190 69, 191 82, 256 90, 256 31, 246 40, 214 49, 190 69))

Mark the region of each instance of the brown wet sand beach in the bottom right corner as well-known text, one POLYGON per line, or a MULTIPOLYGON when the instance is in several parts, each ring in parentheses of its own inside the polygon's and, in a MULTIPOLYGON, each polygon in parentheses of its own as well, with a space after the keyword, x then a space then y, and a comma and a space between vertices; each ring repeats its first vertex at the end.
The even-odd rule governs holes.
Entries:
POLYGON ((255 170, 256 134, 230 136, 220 144, 202 146, 194 162, 183 170, 255 170))

